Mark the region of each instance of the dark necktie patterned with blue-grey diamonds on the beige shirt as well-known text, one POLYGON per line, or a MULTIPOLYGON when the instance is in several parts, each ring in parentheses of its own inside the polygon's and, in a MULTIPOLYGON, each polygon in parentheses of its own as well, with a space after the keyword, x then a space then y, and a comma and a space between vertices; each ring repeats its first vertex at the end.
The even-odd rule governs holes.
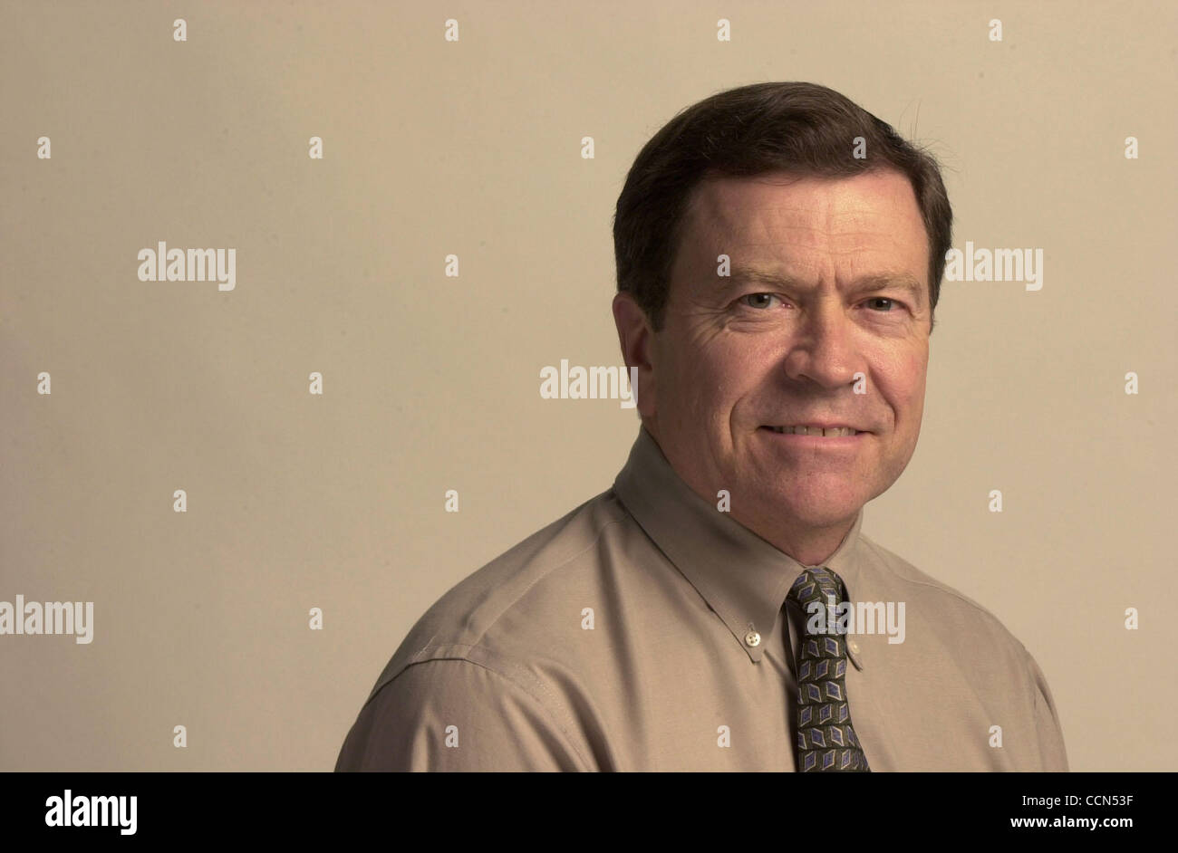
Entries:
POLYGON ((847 600, 842 578, 826 566, 807 568, 794 581, 788 600, 802 608, 802 655, 798 666, 798 769, 871 772, 851 727, 847 706, 847 640, 835 632, 835 607, 847 600), (810 633, 816 612, 826 605, 827 633, 810 633))

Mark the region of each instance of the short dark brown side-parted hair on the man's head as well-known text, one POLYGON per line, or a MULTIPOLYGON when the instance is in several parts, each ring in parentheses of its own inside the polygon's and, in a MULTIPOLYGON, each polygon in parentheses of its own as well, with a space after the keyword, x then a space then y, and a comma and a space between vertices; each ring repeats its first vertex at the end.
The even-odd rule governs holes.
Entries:
POLYGON ((720 92, 681 111, 642 147, 614 214, 617 289, 633 293, 654 329, 662 329, 684 214, 708 178, 775 171, 847 178, 875 169, 902 173, 915 193, 929 244, 932 321, 953 239, 937 160, 851 99, 810 82, 720 92), (856 136, 866 142, 866 159, 853 156, 856 136))

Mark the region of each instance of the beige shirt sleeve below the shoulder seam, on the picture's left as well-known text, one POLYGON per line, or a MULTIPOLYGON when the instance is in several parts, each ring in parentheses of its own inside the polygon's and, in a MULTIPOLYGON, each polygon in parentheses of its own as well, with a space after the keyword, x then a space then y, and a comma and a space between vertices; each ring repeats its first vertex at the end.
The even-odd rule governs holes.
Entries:
POLYGON ((360 709, 336 771, 589 769, 548 709, 479 664, 413 664, 360 709))

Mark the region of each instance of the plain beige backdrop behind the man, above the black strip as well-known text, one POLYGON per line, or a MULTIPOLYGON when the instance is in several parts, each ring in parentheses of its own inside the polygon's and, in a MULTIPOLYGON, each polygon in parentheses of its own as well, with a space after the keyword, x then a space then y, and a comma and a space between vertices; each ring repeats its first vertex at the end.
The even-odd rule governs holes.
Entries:
POLYGON ((0 768, 330 769, 422 612, 609 487, 635 412, 542 400, 540 368, 621 362, 626 172, 761 80, 931 144, 954 246, 1044 249, 1038 293, 945 284, 863 531, 1027 646, 1073 769, 1178 768, 1173 4, 0 13, 0 600, 94 601, 88 646, 0 637, 0 768), (236 289, 139 281, 160 240, 237 248, 236 289))

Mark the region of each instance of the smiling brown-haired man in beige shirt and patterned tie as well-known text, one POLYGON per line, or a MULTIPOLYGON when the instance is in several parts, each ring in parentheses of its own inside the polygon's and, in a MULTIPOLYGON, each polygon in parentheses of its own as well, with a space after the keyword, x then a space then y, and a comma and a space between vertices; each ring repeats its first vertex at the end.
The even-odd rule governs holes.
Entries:
POLYGON ((935 161, 828 88, 673 119, 614 224, 629 460, 425 613, 337 769, 1066 769, 1026 648, 860 529, 951 232, 935 161))

